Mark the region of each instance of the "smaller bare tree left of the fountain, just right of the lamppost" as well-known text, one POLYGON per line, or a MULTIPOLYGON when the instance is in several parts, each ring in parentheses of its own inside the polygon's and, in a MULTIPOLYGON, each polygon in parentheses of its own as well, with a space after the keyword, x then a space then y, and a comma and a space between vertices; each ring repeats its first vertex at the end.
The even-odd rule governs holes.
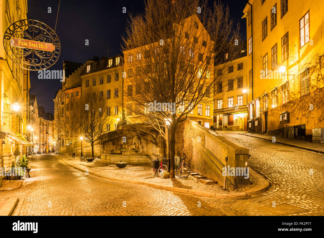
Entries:
POLYGON ((106 126, 112 122, 112 112, 100 92, 93 88, 84 92, 78 111, 80 133, 91 145, 92 157, 94 157, 94 143, 105 133, 106 126))

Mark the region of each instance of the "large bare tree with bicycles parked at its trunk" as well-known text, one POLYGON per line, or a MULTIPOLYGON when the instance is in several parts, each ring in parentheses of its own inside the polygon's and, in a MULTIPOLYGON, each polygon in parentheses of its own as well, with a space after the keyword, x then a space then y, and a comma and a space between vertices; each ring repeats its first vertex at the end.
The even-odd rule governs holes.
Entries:
MULTIPOLYGON (((199 103, 213 103, 214 83, 221 77, 214 74, 214 62, 225 68, 237 58, 242 50, 238 31, 220 2, 209 7, 199 0, 148 0, 144 14, 130 16, 123 37, 126 107, 164 137, 165 119, 170 121, 171 168, 177 125, 199 103), (152 109, 154 102, 170 107, 152 109)), ((170 173, 173 178, 174 170, 170 173)))

